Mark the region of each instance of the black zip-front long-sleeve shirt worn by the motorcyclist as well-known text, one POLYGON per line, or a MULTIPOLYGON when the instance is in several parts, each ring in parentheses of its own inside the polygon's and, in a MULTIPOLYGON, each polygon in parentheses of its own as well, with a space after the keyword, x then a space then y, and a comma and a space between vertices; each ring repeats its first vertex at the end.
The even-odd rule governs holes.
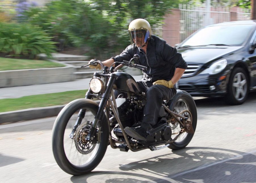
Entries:
POLYGON ((169 81, 173 77, 176 68, 187 68, 181 53, 155 35, 152 35, 148 42, 146 54, 141 48, 133 44, 128 46, 120 55, 114 57, 114 60, 118 62, 129 61, 134 54, 140 56, 135 63, 148 68, 147 71, 143 71, 142 81, 145 83, 153 83, 159 79, 169 81))

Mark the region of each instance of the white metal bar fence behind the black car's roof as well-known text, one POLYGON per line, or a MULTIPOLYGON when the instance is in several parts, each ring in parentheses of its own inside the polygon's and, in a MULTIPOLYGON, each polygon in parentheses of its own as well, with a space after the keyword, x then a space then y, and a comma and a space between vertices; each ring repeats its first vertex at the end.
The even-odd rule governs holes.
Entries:
MULTIPOLYGON (((180 42, 189 35, 204 27, 215 23, 230 21, 230 8, 211 7, 210 11, 206 8, 198 8, 190 5, 180 5, 180 42)), ((250 20, 250 10, 237 8, 237 20, 250 20)))

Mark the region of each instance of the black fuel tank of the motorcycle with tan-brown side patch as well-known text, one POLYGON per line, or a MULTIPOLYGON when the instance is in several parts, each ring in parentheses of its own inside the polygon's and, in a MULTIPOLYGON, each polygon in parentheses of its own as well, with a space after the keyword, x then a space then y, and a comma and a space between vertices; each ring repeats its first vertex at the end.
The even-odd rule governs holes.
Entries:
POLYGON ((140 93, 139 86, 130 74, 127 74, 125 72, 114 72, 114 74, 117 75, 117 79, 114 83, 117 89, 140 93))

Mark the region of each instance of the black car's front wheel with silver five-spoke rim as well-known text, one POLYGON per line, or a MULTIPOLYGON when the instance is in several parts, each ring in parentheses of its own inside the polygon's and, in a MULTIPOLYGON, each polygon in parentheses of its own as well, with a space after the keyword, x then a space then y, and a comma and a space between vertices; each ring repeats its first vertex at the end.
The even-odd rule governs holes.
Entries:
POLYGON ((236 67, 228 82, 226 102, 230 105, 243 104, 249 93, 249 79, 243 68, 236 67))

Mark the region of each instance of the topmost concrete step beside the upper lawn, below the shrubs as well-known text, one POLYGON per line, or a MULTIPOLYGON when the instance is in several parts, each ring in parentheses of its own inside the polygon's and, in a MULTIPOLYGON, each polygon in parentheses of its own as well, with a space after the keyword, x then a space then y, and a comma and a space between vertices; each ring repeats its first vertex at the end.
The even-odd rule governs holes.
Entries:
MULTIPOLYGON (((41 53, 38 55, 42 59, 47 59, 47 55, 44 53, 41 53)), ((62 54, 62 53, 52 53, 52 59, 56 61, 88 61, 90 60, 90 57, 83 56, 83 55, 68 55, 68 54, 62 54)))

